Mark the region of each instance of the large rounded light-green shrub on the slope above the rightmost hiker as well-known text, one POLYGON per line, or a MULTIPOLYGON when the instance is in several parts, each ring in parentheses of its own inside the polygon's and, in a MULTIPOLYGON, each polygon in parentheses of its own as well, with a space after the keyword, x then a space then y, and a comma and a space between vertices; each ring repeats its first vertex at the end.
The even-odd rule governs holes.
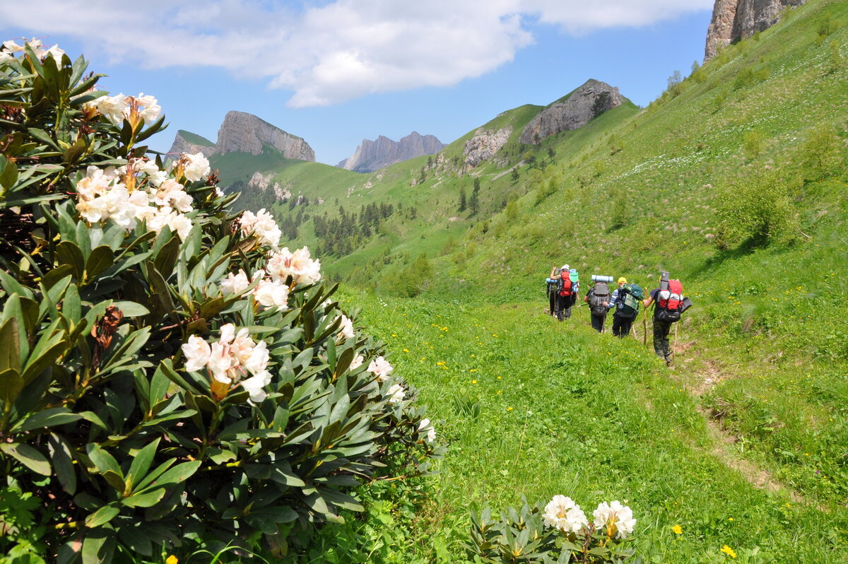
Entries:
POLYGON ((797 182, 774 170, 756 172, 718 188, 718 247, 791 242, 797 232, 795 192, 797 182))

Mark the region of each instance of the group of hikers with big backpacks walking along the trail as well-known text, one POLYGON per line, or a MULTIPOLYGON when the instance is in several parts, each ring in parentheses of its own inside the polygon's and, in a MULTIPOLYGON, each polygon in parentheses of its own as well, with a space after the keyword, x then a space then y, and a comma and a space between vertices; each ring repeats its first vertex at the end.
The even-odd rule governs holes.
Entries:
MULTIPOLYGON (((672 363, 672 351, 668 343, 668 333, 672 324, 680 320, 683 311, 691 307, 689 298, 683 297, 683 284, 672 280, 668 272, 662 272, 659 286, 651 290, 646 298, 644 289, 635 282, 628 283, 627 278, 618 278, 618 287, 610 292, 612 276, 592 276, 592 286, 583 296, 583 302, 589 305, 592 327, 604 332, 606 315, 612 314, 612 334, 625 338, 631 332, 633 321, 639 316, 639 306, 654 306, 654 352, 667 365, 672 363)), ((572 316, 572 307, 580 295, 580 275, 569 265, 554 267, 545 279, 550 305, 550 315, 563 321, 572 316)))

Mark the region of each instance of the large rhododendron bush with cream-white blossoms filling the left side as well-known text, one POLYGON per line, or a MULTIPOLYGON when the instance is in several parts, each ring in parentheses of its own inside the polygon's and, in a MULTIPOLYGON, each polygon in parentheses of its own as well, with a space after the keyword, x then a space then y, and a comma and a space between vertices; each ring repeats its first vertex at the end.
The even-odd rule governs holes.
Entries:
POLYGON ((0 552, 280 547, 360 510, 363 481, 426 472, 416 390, 320 262, 232 213, 203 155, 149 154, 156 99, 98 78, 0 49, 0 496, 21 500, 0 552))

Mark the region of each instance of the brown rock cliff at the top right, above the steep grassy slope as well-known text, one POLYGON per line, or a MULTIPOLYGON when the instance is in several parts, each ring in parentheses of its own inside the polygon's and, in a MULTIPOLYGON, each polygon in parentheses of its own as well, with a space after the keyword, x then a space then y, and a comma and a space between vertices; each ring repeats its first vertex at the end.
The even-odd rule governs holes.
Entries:
POLYGON ((806 0, 716 0, 712 20, 706 30, 704 61, 715 57, 721 47, 754 35, 778 23, 787 6, 800 6, 806 0))

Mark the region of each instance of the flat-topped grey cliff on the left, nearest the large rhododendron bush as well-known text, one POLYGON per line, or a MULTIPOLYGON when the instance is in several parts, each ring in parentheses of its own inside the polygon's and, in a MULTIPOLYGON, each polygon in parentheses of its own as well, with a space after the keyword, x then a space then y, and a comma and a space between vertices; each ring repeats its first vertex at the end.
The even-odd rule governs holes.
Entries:
POLYGON ((278 149, 287 159, 315 160, 315 151, 301 137, 282 131, 253 114, 228 112, 218 130, 218 142, 213 146, 199 145, 186 140, 192 137, 187 131, 177 131, 170 153, 213 154, 250 153, 261 154, 265 146, 278 149))

